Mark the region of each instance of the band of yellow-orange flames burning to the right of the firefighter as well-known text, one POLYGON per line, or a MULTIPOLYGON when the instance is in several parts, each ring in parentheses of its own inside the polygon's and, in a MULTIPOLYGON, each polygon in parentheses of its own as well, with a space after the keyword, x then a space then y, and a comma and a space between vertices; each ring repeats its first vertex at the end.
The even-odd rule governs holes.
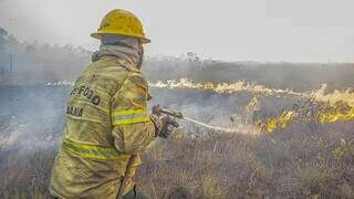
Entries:
POLYGON ((180 78, 179 81, 168 80, 166 82, 158 81, 150 83, 153 87, 159 88, 190 88, 190 90, 205 90, 216 93, 238 93, 250 92, 253 98, 246 107, 248 112, 259 109, 258 96, 272 96, 272 95, 292 95, 300 97, 304 105, 298 105, 296 108, 291 111, 281 112, 275 117, 263 118, 256 121, 256 126, 272 133, 279 128, 285 128, 292 122, 316 122, 320 124, 329 124, 336 122, 354 121, 354 92, 353 88, 345 91, 334 91, 326 93, 327 85, 323 84, 320 90, 309 91, 306 93, 298 93, 292 90, 275 90, 268 88, 263 85, 250 84, 243 81, 235 83, 211 83, 202 82, 195 83, 188 78, 180 78))

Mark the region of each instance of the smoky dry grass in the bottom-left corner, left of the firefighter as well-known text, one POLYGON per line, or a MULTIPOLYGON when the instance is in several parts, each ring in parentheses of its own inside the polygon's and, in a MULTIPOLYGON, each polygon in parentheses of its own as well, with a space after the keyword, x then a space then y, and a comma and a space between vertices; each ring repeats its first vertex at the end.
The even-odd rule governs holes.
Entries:
POLYGON ((0 198, 49 198, 54 148, 0 150, 0 198))

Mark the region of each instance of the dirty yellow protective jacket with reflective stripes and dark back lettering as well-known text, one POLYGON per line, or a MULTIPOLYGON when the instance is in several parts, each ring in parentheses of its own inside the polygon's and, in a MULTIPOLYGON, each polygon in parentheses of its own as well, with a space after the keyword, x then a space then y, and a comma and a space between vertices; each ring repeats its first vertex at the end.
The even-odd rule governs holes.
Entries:
MULTIPOLYGON (((132 155, 153 140, 147 82, 132 60, 97 56, 74 83, 63 140, 52 168, 50 191, 59 198, 116 197, 132 155)), ((124 192, 134 187, 139 156, 124 192)))

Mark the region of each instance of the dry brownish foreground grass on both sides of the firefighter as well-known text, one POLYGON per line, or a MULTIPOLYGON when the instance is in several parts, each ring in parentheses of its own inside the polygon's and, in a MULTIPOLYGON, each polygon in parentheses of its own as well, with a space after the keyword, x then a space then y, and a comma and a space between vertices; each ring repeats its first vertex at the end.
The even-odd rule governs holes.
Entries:
MULTIPOLYGON (((144 154, 138 185, 162 199, 354 198, 353 127, 290 126, 261 136, 179 132, 144 154)), ((0 198, 48 198, 54 154, 1 150, 0 198)))

